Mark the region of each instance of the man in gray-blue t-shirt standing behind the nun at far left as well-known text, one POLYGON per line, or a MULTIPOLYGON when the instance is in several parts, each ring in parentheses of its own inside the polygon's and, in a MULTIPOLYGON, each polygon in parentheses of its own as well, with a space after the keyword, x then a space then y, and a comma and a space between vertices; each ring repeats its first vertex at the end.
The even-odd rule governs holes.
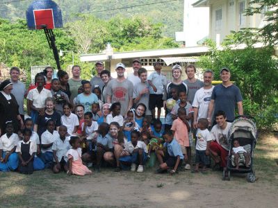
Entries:
POLYGON ((26 96, 26 87, 24 83, 19 81, 19 68, 12 67, 10 68, 10 83, 13 84, 12 94, 15 96, 17 100, 17 104, 19 105, 19 114, 24 119, 24 96, 26 96))

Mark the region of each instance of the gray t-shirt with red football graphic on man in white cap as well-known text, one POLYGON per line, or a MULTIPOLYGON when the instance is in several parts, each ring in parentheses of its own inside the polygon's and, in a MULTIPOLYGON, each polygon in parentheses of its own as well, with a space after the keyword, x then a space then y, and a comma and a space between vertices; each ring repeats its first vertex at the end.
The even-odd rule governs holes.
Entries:
POLYGON ((106 94, 112 96, 111 103, 121 103, 121 115, 124 116, 129 106, 129 99, 133 96, 133 84, 129 80, 124 80, 122 83, 117 79, 111 80, 107 85, 106 94))

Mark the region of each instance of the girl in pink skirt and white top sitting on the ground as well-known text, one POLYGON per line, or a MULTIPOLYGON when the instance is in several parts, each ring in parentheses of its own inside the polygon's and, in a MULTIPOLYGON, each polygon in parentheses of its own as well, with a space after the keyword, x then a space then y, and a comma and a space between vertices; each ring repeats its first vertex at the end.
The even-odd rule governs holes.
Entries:
POLYGON ((72 146, 72 148, 68 150, 66 153, 69 162, 69 171, 67 171, 67 174, 68 175, 92 174, 92 171, 90 171, 89 168, 87 168, 82 164, 79 137, 71 137, 70 145, 72 146))

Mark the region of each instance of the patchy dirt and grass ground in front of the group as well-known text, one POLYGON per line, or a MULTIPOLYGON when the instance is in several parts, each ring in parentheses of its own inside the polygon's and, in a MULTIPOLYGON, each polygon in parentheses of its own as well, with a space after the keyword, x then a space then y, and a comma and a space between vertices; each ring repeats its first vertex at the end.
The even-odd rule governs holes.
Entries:
POLYGON ((277 135, 261 134, 254 152, 257 180, 252 184, 244 174, 231 174, 231 181, 223 182, 221 172, 171 176, 156 175, 155 168, 144 173, 105 168, 85 177, 49 170, 0 173, 0 207, 191 207, 196 200, 197 207, 276 207, 277 159, 277 135))

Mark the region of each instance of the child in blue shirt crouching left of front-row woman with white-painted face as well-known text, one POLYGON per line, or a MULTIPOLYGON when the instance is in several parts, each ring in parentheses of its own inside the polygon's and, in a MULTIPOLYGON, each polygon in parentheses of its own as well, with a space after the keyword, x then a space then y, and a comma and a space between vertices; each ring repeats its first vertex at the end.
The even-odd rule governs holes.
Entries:
POLYGON ((99 129, 97 130, 99 135, 97 136, 97 163, 96 163, 96 171, 99 171, 99 167, 101 165, 102 158, 104 157, 104 153, 108 151, 113 151, 113 139, 108 134, 109 132, 109 124, 101 123, 99 125, 99 129))

